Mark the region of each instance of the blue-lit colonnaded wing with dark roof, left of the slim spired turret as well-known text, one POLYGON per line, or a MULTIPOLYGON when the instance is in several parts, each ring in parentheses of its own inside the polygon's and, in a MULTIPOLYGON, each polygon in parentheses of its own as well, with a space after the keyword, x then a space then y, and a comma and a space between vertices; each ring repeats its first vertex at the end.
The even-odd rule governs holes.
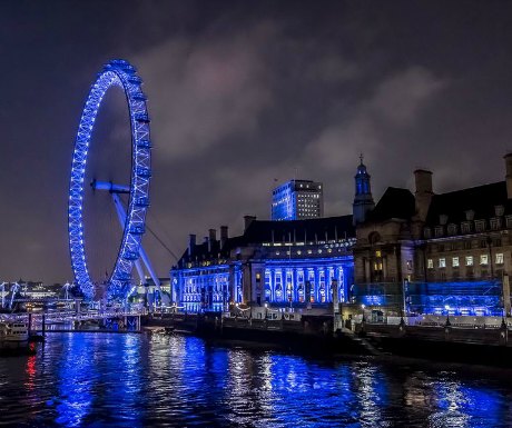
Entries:
POLYGON ((348 301, 353 286, 352 216, 296 221, 246 217, 244 235, 210 230, 171 269, 173 299, 185 311, 233 306, 322 308, 348 301))

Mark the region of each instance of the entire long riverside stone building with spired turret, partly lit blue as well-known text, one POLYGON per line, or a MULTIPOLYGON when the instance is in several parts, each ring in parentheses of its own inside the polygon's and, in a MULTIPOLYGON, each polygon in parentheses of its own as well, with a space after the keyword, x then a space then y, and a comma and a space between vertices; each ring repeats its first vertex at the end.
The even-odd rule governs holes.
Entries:
POLYGON ((436 193, 433 173, 416 170, 414 192, 390 187, 374 203, 361 161, 352 215, 247 216, 240 236, 191 235, 170 272, 173 301, 186 311, 344 303, 375 319, 510 315, 512 155, 505 171, 503 181, 436 193))

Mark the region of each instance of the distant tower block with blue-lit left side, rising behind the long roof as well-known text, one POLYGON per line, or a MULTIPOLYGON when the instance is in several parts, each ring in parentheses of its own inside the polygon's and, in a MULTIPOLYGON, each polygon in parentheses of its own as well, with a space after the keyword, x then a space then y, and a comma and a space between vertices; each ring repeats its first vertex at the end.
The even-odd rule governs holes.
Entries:
POLYGON ((324 196, 321 182, 289 180, 274 189, 273 220, 303 220, 324 216, 324 196))

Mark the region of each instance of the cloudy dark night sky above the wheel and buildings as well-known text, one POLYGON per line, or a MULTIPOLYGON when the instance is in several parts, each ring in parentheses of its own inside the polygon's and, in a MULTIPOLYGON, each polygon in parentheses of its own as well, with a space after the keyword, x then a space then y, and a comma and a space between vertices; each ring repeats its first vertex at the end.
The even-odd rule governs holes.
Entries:
MULTIPOLYGON (((510 1, 4 0, 0 39, 1 280, 72 280, 72 147, 112 58, 145 81, 148 225, 177 255, 190 232, 267 219, 275 179, 323 181, 325 215, 351 213, 360 152, 377 200, 387 186, 413 189, 419 167, 437 192, 503 180, 512 150, 510 1)), ((129 172, 115 90, 91 150, 93 177, 129 172)), ((111 203, 86 199, 88 253, 109 260, 111 203)), ((167 276, 170 253, 144 242, 167 276)))

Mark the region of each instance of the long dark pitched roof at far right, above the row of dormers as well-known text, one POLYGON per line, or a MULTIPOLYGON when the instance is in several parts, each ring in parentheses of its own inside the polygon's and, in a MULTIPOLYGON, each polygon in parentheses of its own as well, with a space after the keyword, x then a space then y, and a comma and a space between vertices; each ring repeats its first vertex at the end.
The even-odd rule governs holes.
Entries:
POLYGON ((451 191, 432 197, 427 225, 439 225, 440 216, 447 216, 447 222, 459 223, 465 220, 465 211, 473 210, 474 219, 494 217, 495 206, 505 207, 505 213, 512 212, 512 203, 506 196, 506 182, 499 181, 467 189, 451 191))

